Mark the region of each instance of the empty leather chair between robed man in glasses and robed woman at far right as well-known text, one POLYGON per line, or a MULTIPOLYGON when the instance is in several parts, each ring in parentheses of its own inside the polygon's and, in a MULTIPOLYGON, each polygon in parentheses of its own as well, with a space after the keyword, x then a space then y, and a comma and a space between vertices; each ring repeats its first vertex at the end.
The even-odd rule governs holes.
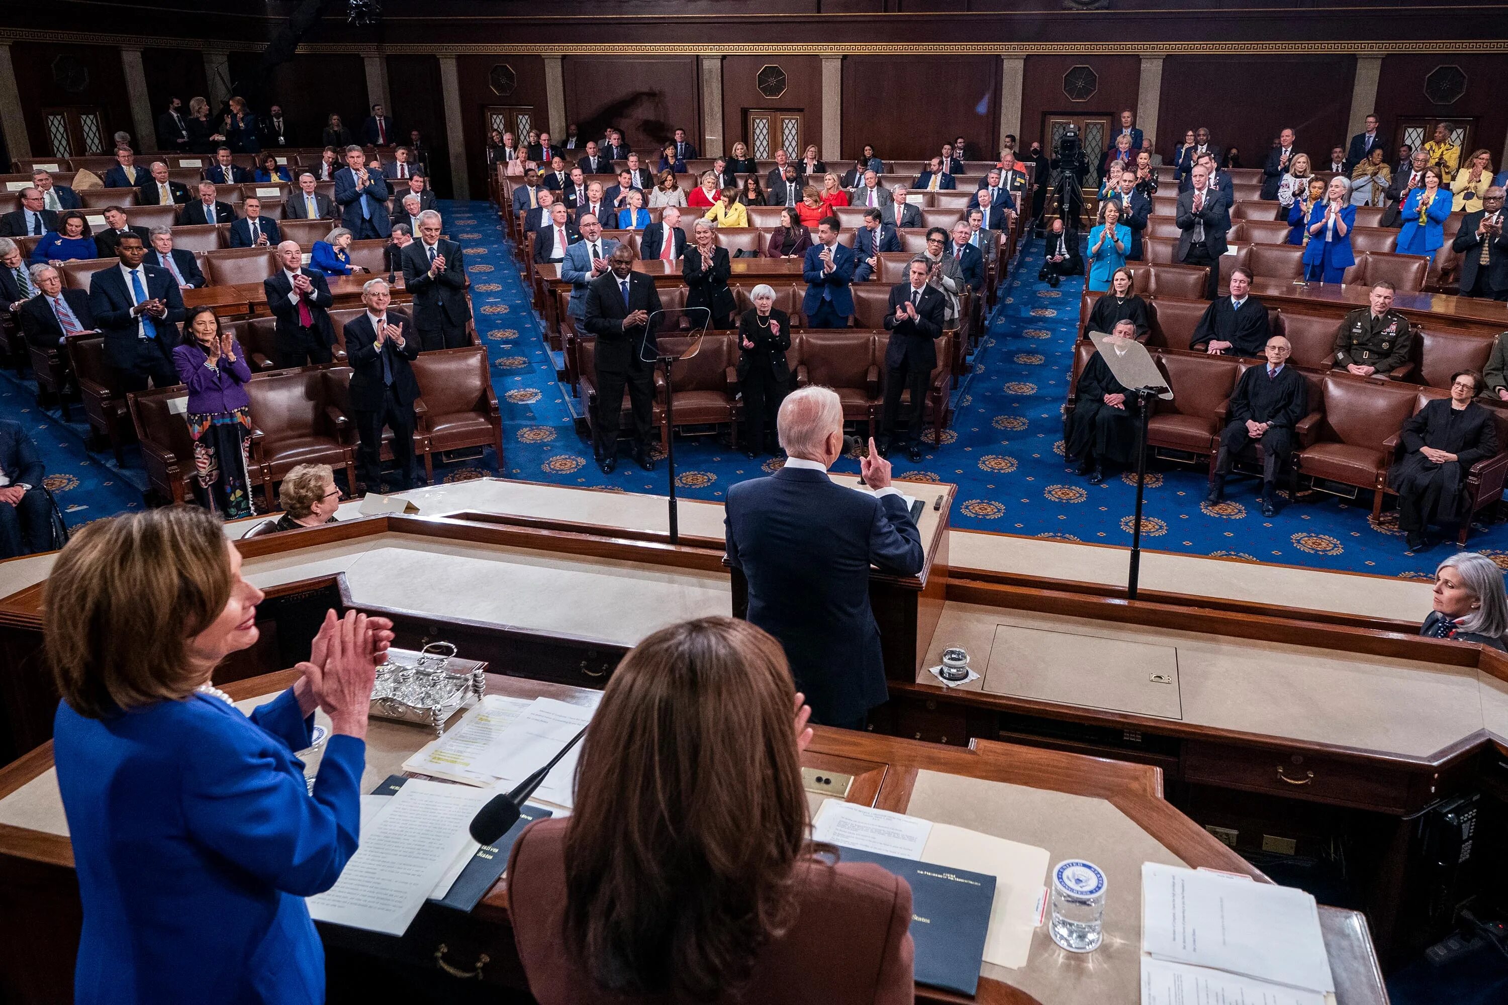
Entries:
POLYGON ((1383 512, 1383 485, 1418 387, 1348 374, 1324 377, 1320 420, 1295 429, 1294 463, 1301 475, 1372 490, 1372 517, 1383 512))

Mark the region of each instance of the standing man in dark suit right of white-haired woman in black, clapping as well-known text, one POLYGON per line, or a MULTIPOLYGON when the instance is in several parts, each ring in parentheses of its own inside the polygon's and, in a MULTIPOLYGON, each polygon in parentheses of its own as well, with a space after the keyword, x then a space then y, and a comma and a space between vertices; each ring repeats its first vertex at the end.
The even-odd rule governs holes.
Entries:
POLYGON ((938 365, 936 341, 942 338, 944 300, 942 291, 927 285, 932 268, 924 258, 911 259, 908 271, 911 282, 890 288, 890 312, 885 315, 890 342, 885 347, 885 411, 879 452, 890 457, 890 446, 897 438, 900 393, 908 392, 911 419, 899 438, 905 440, 906 457, 918 464, 921 414, 926 411, 932 368, 938 365))

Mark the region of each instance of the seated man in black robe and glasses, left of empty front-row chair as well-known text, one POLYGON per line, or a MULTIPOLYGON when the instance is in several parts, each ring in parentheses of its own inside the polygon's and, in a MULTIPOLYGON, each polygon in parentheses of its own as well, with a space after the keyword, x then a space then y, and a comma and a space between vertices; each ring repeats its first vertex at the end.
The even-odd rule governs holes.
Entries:
POLYGON ((1215 455, 1215 476, 1209 484, 1206 503, 1224 499, 1224 479, 1237 457, 1250 457, 1262 446, 1262 515, 1277 512, 1277 473, 1294 452, 1294 426, 1307 414, 1307 384, 1304 375, 1288 366, 1292 345, 1280 334, 1267 341, 1267 366, 1250 366, 1231 395, 1229 417, 1220 434, 1215 455))

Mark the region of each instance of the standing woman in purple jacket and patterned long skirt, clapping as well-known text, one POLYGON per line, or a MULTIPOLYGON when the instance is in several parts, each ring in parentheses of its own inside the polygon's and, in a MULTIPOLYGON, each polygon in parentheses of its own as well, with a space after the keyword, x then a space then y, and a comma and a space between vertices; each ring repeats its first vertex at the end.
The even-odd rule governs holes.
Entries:
POLYGON ((252 515, 252 402, 246 350, 220 330, 214 307, 201 306, 184 321, 187 338, 173 348, 178 380, 188 387, 184 419, 193 440, 195 500, 226 520, 252 515))

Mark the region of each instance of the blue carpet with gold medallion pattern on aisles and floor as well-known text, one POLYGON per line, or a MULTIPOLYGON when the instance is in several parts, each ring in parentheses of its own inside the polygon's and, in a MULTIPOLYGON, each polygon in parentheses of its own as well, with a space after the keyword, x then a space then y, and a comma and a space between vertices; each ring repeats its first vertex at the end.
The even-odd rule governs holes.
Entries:
MULTIPOLYGON (((624 491, 665 491, 665 466, 645 473, 632 463, 603 476, 590 443, 576 432, 579 404, 555 380, 541 321, 529 304, 502 228, 483 202, 442 205, 449 232, 466 249, 477 328, 492 357, 493 384, 502 404, 504 454, 508 478, 562 485, 608 487, 624 491), (575 405, 575 408, 573 408, 575 405)), ((955 526, 1039 538, 1128 547, 1134 476, 1111 476, 1089 485, 1062 458, 1060 405, 1066 392, 1083 280, 1059 289, 1036 282, 1034 249, 1007 282, 989 331, 955 392, 956 416, 942 444, 927 444, 923 463, 902 460, 903 478, 955 482, 959 487, 955 526)), ((6 372, 0 378, 0 410, 33 428, 48 473, 71 524, 140 506, 142 484, 134 452, 127 467, 84 451, 81 423, 63 425, 35 407, 30 386, 6 372)), ((75 417, 80 413, 75 410, 75 417)), ((930 431, 927 432, 930 435, 930 431)), ((721 499, 727 487, 774 470, 778 461, 746 461, 721 448, 716 437, 677 437, 677 485, 692 499, 721 499)), ((489 473, 492 452, 480 461, 436 470, 436 479, 489 473)), ((857 472, 857 458, 837 470, 857 472)), ((1427 577, 1454 544, 1422 554, 1404 551, 1392 511, 1372 524, 1369 496, 1348 503, 1316 494, 1264 520, 1256 509, 1256 482, 1234 478, 1228 502, 1205 506, 1202 469, 1154 461, 1148 484, 1143 545, 1190 554, 1232 556, 1256 562, 1304 565, 1381 576, 1427 577)), ((1476 527, 1472 547, 1508 564, 1508 529, 1476 527)), ((967 556, 961 561, 967 562, 967 556)))

